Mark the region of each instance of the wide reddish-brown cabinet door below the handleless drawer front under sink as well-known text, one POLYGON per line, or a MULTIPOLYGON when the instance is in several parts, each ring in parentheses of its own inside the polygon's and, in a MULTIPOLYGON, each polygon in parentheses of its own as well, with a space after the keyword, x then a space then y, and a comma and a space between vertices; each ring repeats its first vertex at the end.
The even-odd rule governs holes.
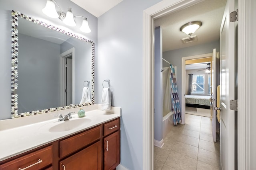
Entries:
POLYGON ((60 170, 101 170, 101 141, 60 161, 60 170))

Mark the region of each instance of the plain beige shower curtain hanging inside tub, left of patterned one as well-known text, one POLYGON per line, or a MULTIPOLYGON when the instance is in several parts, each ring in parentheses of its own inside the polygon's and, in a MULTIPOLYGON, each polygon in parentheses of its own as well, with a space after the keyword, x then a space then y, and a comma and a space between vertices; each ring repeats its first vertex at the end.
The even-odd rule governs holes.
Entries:
POLYGON ((163 68, 163 117, 167 115, 172 108, 170 95, 170 67, 163 68))

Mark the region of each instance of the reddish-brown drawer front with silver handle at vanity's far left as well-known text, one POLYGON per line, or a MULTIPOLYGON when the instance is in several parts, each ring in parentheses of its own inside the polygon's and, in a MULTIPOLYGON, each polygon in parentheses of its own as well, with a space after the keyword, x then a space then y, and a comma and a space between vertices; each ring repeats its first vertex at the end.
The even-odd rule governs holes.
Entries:
POLYGON ((10 162, 0 165, 0 170, 39 170, 52 163, 52 146, 37 150, 10 162))

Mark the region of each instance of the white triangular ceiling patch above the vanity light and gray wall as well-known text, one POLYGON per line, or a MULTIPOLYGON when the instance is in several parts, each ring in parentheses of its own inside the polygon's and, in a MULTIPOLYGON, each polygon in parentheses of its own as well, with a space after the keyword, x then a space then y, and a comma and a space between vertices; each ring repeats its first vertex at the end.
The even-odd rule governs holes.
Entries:
POLYGON ((97 18, 123 0, 71 0, 97 18))

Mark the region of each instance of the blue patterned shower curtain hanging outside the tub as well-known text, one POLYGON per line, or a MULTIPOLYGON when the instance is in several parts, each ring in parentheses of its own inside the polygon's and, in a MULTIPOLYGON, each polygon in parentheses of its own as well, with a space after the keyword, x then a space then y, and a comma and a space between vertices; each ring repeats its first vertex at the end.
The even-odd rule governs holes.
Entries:
POLYGON ((176 82, 174 65, 172 64, 170 64, 170 89, 172 98, 173 124, 177 125, 178 123, 182 123, 182 120, 180 111, 180 100, 178 95, 178 86, 176 82))

